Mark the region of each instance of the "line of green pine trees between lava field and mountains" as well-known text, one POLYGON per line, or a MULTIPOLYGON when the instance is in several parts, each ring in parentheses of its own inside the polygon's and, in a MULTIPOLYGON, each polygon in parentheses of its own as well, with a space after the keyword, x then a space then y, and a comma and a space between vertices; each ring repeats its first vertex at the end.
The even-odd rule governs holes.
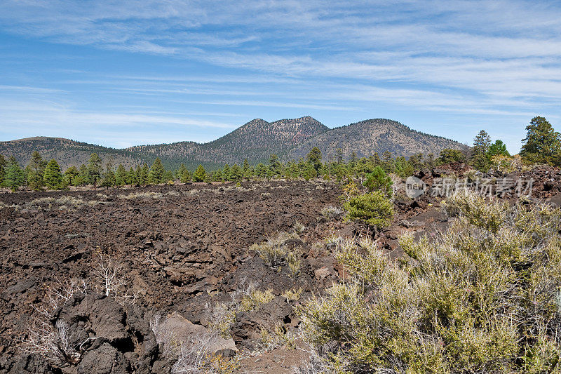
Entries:
MULTIPOLYGON (((536 116, 526 127, 527 136, 522 140, 522 150, 517 155, 525 163, 544 163, 561 166, 561 135, 553 130, 551 124, 543 117, 536 116)), ((92 153, 88 163, 79 167, 69 166, 62 172, 55 159, 43 160, 39 152, 33 152, 27 166, 22 168, 11 156, 6 159, 0 155, 0 186, 13 190, 20 186, 40 191, 42 189, 65 189, 69 186, 120 187, 124 185, 155 185, 161 183, 190 182, 241 182, 242 180, 271 180, 285 178, 288 180, 364 180, 373 171, 381 169, 384 173, 393 173, 405 178, 421 168, 432 168, 444 163, 466 162, 480 171, 488 171, 497 163, 508 163, 511 156, 501 140, 492 143, 489 134, 482 130, 475 137, 473 147, 469 149, 443 149, 438 156, 434 154, 414 154, 406 159, 394 157, 390 152, 381 156, 377 153, 369 157, 358 158, 353 152, 345 161, 342 149, 337 149, 334 160, 323 162, 320 149, 313 147, 305 159, 280 162, 276 154, 271 154, 268 163, 250 165, 245 159, 241 165, 225 164, 222 168, 206 171, 202 165, 194 171, 181 164, 176 170, 168 170, 161 159, 148 166, 139 164, 129 170, 119 163, 114 166, 109 159, 105 165, 97 153, 92 153)))

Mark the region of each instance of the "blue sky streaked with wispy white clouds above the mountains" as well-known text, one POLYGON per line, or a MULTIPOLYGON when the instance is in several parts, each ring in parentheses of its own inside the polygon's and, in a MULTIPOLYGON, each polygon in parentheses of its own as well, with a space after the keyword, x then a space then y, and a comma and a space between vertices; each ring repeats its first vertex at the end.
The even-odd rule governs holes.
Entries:
POLYGON ((0 140, 206 142, 311 115, 518 152, 535 115, 561 131, 560 101, 560 1, 0 0, 0 140))

